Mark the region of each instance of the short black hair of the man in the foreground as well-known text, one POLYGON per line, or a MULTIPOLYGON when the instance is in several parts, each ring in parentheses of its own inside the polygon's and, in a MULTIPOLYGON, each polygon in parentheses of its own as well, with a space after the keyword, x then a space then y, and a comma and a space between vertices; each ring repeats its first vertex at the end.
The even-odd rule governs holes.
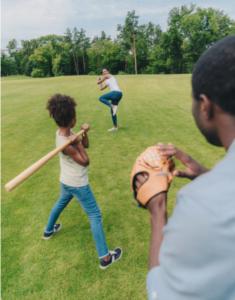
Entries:
POLYGON ((235 36, 218 41, 200 57, 192 87, 195 100, 205 94, 223 111, 235 115, 235 36))

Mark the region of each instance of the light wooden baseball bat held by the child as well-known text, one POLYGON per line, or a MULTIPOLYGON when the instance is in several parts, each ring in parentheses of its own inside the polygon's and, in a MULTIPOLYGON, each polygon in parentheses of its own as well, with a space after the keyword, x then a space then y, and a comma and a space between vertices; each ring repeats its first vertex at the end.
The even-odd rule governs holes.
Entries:
MULTIPOLYGON (((80 130, 76 135, 82 135, 85 131, 80 130)), ((71 143, 70 140, 67 140, 62 145, 48 153, 47 155, 43 156, 41 159, 39 159, 37 162, 35 162, 32 166, 30 166, 28 169, 24 170, 22 173, 20 173, 18 176, 16 176, 14 179, 9 181, 5 185, 5 189, 10 192, 15 187, 17 187, 21 182, 23 182, 25 179, 27 179, 29 176, 31 176, 34 172, 36 172, 38 169, 40 169, 45 163, 47 163, 52 157, 54 157, 57 153, 62 151, 65 147, 67 147, 71 143)))

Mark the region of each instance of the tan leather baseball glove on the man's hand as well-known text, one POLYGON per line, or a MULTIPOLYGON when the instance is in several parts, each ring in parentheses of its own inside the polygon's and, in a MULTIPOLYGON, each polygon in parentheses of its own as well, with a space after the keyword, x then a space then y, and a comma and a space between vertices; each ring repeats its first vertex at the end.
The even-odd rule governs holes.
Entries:
POLYGON ((172 172, 175 163, 170 156, 160 156, 160 151, 156 146, 147 148, 136 159, 132 173, 131 186, 140 207, 146 208, 148 202, 160 193, 166 193, 173 179, 172 172), (146 180, 140 186, 138 192, 135 191, 136 176, 142 174, 146 180))

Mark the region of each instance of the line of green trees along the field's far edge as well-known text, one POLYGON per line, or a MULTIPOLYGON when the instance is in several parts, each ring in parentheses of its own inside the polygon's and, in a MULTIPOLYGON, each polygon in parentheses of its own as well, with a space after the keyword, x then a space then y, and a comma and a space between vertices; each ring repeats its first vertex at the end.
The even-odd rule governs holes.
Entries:
POLYGON ((102 67, 112 74, 191 73, 206 49, 235 34, 234 20, 223 11, 194 4, 171 9, 167 25, 165 32, 152 22, 140 25, 133 10, 113 40, 104 31, 91 39, 76 27, 61 36, 22 40, 21 47, 13 39, 1 51, 1 76, 95 75, 102 67))

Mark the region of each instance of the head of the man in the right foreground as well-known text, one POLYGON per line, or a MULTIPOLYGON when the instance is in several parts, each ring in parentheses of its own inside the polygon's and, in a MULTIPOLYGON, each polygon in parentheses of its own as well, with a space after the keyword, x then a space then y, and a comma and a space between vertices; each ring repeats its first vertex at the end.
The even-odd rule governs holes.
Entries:
POLYGON ((220 40, 200 57, 193 70, 192 95, 197 126, 209 143, 222 146, 216 116, 235 121, 235 36, 220 40))

